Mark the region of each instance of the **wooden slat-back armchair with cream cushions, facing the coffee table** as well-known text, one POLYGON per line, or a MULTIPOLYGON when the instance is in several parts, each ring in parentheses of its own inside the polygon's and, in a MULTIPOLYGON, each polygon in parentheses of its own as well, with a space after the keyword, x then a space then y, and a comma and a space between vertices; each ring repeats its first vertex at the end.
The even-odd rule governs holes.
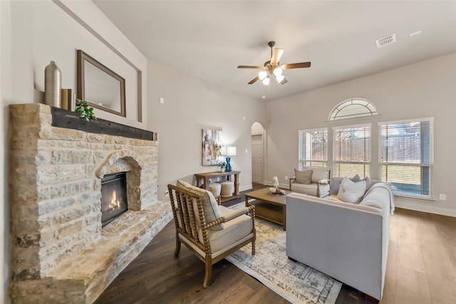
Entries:
POLYGON ((219 196, 217 202, 211 192, 182 181, 168 184, 168 190, 176 226, 174 255, 179 256, 184 243, 205 263, 204 288, 210 285, 214 263, 250 242, 255 254, 254 206, 237 210, 219 206, 219 196))

